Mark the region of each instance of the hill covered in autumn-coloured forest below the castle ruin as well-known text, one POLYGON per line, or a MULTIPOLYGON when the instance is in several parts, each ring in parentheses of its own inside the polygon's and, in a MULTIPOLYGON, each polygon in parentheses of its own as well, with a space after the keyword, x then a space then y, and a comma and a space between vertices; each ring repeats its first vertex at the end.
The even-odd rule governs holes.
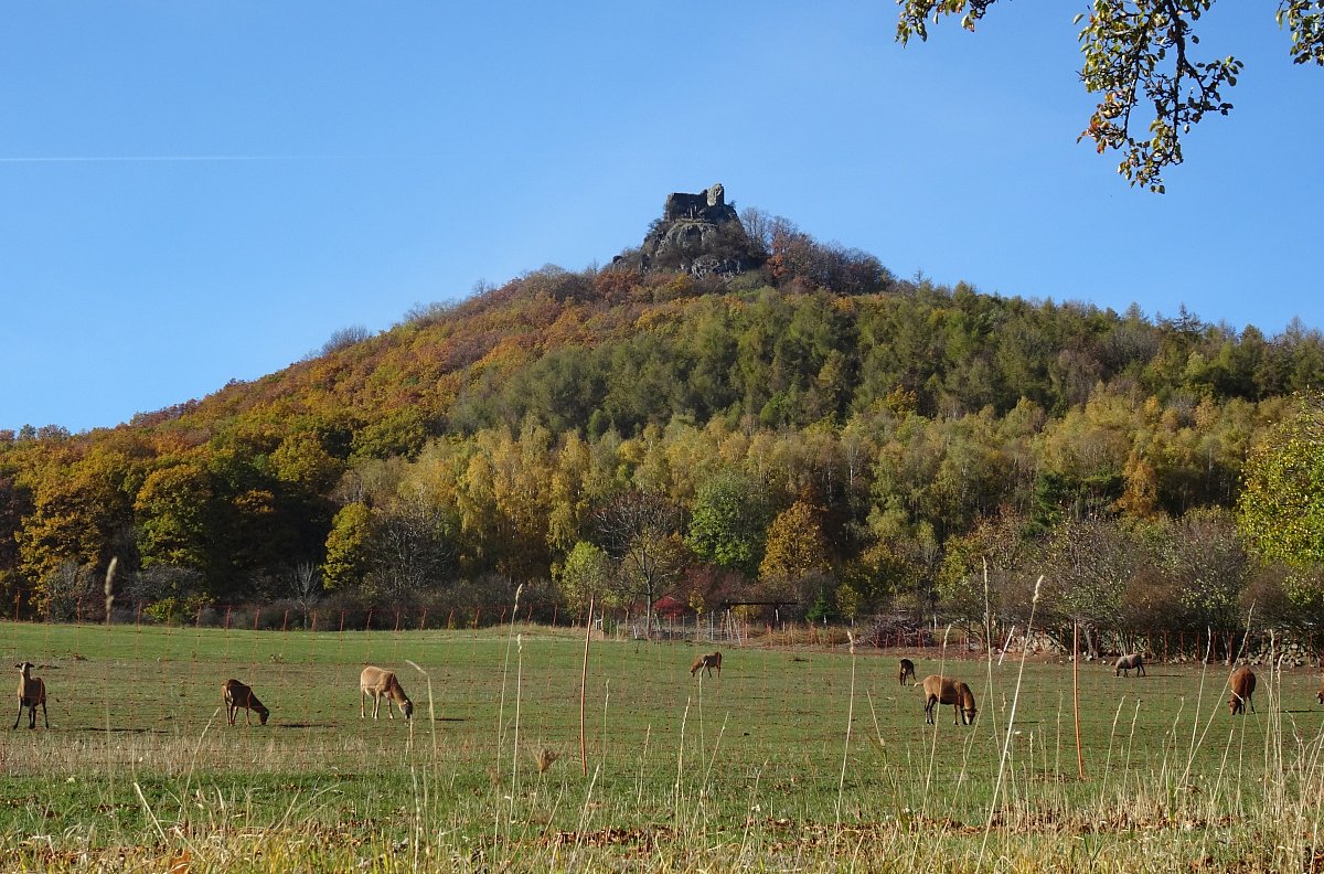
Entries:
MULTIPOLYGON (((960 614, 978 561, 1010 605, 1031 565, 1080 564, 1080 526, 1113 564, 1182 572, 1145 550, 1204 526, 1242 556, 1227 616, 1268 585, 1238 498, 1271 422, 1309 408, 1317 331, 898 281, 780 232, 755 271, 544 267, 130 425, 0 436, 0 595, 69 614, 117 558, 159 617, 520 583, 960 614)), ((1139 577, 1110 568, 1116 613, 1139 577)))

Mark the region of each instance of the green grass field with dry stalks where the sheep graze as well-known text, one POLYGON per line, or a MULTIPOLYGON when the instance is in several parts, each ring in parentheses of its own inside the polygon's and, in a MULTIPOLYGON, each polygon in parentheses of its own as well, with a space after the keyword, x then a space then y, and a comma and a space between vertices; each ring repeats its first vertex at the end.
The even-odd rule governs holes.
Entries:
POLYGON ((581 757, 564 629, 3 622, 0 646, 50 695, 49 731, 4 727, 4 870, 1324 870, 1313 669, 1256 669, 1233 718, 1222 665, 1082 665, 1082 780, 1057 658, 745 646, 692 679, 694 645, 593 641, 581 757), (900 654, 965 679, 974 726, 925 726, 900 654), (360 719, 369 662, 412 722, 360 719), (229 677, 267 726, 225 724, 229 677))

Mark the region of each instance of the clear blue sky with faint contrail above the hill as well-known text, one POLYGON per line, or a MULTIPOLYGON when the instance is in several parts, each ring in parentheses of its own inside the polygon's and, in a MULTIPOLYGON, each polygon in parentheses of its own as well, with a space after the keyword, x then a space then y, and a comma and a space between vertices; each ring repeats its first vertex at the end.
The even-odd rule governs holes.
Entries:
POLYGON ((892 41, 846 3, 25 3, 0 29, 0 428, 203 397, 637 245, 726 185, 895 274, 1274 335, 1321 322, 1324 72, 1270 0, 1168 195, 1078 144, 1076 3, 892 41))

